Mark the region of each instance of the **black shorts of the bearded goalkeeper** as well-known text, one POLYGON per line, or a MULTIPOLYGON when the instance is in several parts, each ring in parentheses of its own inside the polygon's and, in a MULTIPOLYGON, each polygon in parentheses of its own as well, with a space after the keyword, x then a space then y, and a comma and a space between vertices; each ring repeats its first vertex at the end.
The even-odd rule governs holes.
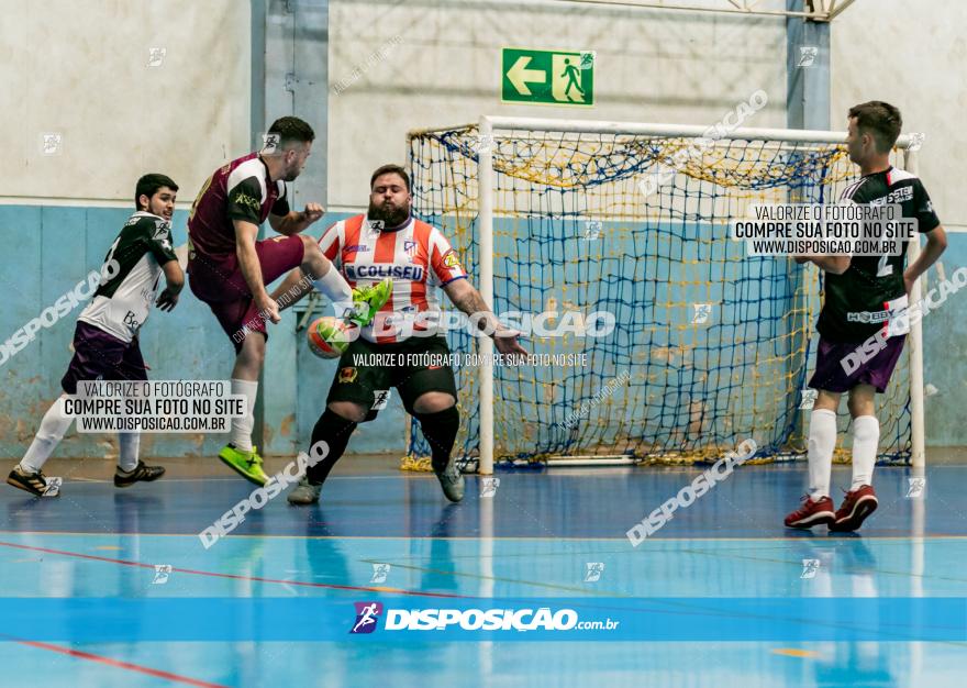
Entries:
POLYGON ((369 409, 365 423, 386 408, 393 387, 410 415, 413 403, 427 391, 443 391, 456 399, 457 386, 446 340, 443 336, 410 337, 393 344, 356 340, 340 357, 325 402, 353 401, 369 409))

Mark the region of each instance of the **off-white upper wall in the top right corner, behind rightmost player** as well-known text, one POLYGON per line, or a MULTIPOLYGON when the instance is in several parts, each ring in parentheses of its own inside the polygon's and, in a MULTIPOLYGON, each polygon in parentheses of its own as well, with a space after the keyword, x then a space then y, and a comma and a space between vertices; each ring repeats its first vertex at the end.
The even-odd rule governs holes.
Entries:
POLYGON ((926 134, 918 154, 923 179, 946 226, 967 225, 960 162, 967 136, 967 2, 859 0, 833 22, 831 122, 846 127, 851 106, 885 100, 903 115, 903 131, 926 134))

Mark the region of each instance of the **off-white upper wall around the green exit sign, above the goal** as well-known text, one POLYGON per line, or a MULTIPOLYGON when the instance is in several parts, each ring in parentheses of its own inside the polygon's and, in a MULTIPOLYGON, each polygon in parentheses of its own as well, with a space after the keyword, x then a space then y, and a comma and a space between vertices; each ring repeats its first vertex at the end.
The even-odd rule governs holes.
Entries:
POLYGON ((405 164, 409 130, 481 114, 709 126, 762 89, 769 104, 745 125, 785 126, 786 24, 544 1, 332 0, 329 76, 329 204, 365 207, 370 173, 405 164), (502 47, 594 51, 597 104, 501 103, 502 47))

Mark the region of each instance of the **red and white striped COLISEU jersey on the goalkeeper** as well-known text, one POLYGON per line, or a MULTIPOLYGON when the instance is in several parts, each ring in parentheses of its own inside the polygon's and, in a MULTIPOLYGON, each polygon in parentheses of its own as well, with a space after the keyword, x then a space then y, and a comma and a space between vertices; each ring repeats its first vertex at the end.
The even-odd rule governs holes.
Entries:
POLYGON ((402 342, 414 330, 434 329, 421 324, 434 322, 440 313, 433 287, 467 277, 443 232, 415 218, 388 231, 377 230, 365 214, 355 215, 329 228, 319 246, 351 287, 392 278, 392 298, 362 332, 376 344, 402 342))

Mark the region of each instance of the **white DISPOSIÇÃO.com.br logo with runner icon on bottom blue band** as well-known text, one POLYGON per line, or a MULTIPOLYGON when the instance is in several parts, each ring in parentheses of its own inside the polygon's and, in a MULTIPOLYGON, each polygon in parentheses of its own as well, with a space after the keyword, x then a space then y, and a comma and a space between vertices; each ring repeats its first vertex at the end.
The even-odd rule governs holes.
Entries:
POLYGON ((373 633, 386 612, 385 631, 613 631, 611 618, 581 621, 574 609, 386 609, 379 602, 355 602, 349 633, 373 633))

